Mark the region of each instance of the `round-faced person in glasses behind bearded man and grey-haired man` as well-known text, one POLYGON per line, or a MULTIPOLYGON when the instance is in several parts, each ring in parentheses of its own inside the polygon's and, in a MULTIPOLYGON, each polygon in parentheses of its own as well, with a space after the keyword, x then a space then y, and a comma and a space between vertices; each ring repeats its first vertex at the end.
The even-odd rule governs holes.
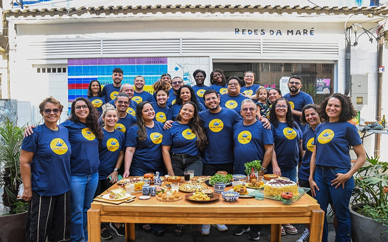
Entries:
POLYGON ((241 80, 238 76, 230 76, 227 81, 227 93, 221 95, 220 106, 235 110, 240 114, 241 102, 246 99, 241 93, 241 80))

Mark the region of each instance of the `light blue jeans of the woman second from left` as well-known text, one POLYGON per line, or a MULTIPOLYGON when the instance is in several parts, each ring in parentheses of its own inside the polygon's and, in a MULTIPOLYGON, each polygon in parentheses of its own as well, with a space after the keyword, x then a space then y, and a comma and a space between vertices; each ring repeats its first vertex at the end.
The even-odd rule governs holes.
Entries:
POLYGON ((88 240, 87 211, 93 201, 98 184, 98 172, 71 177, 71 241, 88 240))

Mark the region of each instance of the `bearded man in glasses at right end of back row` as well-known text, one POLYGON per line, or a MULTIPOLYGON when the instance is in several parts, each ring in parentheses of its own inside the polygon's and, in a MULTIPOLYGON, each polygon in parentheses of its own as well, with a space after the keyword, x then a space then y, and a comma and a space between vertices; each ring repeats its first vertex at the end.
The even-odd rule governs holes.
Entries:
POLYGON ((313 104, 314 101, 312 97, 306 92, 300 91, 302 88, 302 78, 298 75, 291 76, 288 80, 288 89, 289 93, 285 94, 283 97, 289 101, 292 110, 292 117, 295 122, 298 123, 299 128, 302 132, 305 132, 306 126, 300 122, 300 117, 302 117, 302 109, 307 104, 313 104))

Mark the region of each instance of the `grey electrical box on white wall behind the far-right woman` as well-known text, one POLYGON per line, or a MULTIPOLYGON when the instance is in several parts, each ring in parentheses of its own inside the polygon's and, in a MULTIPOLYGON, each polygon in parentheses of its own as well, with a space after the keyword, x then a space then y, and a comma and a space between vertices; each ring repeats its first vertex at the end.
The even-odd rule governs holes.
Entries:
POLYGON ((352 79, 352 103, 359 111, 368 104, 368 75, 351 75, 352 79))

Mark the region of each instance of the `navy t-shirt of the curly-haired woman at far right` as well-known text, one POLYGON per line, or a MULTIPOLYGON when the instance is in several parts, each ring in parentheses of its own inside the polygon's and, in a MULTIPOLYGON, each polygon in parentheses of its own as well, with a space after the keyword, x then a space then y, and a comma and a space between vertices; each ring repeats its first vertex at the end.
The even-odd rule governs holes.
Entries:
POLYGON ((350 122, 324 122, 315 129, 315 165, 350 169, 350 146, 360 145, 357 128, 350 122))

